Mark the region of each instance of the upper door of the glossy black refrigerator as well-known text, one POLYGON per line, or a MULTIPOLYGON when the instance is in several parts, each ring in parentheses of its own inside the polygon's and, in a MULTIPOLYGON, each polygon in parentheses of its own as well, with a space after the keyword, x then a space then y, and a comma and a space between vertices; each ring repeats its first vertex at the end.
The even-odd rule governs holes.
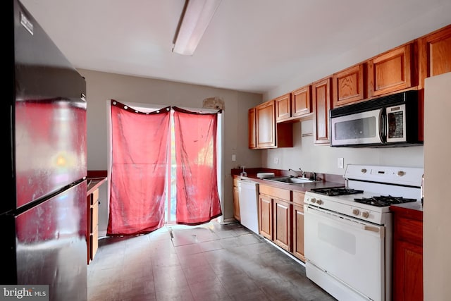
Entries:
POLYGON ((13 142, 8 176, 15 176, 16 199, 0 202, 0 213, 87 176, 85 79, 22 4, 13 2, 14 94, 7 113, 13 142))

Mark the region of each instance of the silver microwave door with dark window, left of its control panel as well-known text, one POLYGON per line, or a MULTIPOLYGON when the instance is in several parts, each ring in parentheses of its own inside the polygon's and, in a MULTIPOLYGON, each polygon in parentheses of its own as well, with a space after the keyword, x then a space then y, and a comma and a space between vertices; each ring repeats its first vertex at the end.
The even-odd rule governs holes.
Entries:
POLYGON ((332 146, 381 143, 382 111, 377 109, 332 118, 332 146))

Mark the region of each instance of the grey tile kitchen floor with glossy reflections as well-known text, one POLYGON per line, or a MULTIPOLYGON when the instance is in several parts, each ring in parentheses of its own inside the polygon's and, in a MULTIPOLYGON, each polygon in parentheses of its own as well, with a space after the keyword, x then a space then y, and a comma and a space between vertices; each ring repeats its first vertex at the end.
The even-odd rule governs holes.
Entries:
POLYGON ((88 300, 335 300, 305 268, 240 223, 165 226, 102 238, 88 300))

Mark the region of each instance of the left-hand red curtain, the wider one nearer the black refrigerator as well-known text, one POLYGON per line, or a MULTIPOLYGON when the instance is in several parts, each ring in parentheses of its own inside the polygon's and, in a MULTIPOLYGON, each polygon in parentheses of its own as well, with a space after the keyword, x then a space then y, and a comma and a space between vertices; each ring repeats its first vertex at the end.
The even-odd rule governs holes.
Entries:
POLYGON ((111 100, 111 195, 107 235, 164 225, 170 107, 151 113, 111 100))

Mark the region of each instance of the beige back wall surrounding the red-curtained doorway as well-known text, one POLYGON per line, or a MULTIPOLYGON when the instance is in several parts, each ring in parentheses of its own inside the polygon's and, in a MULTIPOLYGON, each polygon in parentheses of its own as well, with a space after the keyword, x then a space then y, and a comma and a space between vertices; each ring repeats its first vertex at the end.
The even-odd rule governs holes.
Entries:
MULTIPOLYGON (((233 218, 232 178, 230 169, 237 164, 260 166, 261 153, 247 148, 247 109, 261 103, 261 94, 237 92, 200 85, 187 85, 165 80, 137 78, 127 75, 78 69, 87 82, 87 167, 107 169, 107 102, 163 104, 202 108, 202 101, 221 97, 223 111, 223 217, 233 218), (237 161, 232 161, 232 154, 237 161)), ((99 233, 106 233, 106 185, 99 190, 101 208, 99 233), (102 202, 103 201, 103 202, 102 202)))

